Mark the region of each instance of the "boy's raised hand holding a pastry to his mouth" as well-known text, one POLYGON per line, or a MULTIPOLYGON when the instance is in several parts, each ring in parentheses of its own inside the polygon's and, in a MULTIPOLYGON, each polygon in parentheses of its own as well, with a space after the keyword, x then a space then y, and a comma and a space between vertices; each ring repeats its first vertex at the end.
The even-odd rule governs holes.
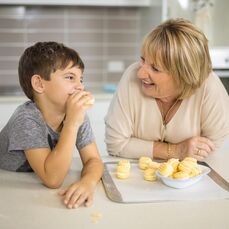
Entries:
POLYGON ((83 123, 85 111, 92 106, 90 101, 94 97, 87 91, 76 91, 69 95, 66 104, 65 123, 80 126, 83 123))

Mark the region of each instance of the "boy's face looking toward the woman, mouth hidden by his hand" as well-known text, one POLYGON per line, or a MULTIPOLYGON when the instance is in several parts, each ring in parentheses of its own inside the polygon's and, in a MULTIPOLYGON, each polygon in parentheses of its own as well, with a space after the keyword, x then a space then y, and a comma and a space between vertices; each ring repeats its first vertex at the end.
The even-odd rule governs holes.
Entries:
POLYGON ((46 99, 59 108, 65 108, 69 95, 84 90, 82 70, 78 66, 72 67, 72 63, 52 73, 50 78, 50 81, 43 81, 46 99))

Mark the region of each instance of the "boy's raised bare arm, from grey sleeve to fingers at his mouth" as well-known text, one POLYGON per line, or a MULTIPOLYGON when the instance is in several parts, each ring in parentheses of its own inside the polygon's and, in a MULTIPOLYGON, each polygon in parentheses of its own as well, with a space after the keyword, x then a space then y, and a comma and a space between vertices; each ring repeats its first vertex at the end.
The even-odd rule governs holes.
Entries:
POLYGON ((52 151, 49 148, 25 150, 30 166, 50 188, 59 187, 70 168, 77 132, 83 123, 85 111, 91 106, 87 105, 90 99, 91 96, 85 91, 69 96, 64 126, 52 151))

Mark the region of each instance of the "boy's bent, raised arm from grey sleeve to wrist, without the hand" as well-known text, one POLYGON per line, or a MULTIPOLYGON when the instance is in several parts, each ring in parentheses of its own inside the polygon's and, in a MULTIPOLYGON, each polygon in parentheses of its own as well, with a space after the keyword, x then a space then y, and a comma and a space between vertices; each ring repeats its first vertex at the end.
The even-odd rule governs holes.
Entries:
POLYGON ((59 187, 72 161, 78 128, 65 123, 56 147, 25 150, 26 158, 43 183, 50 188, 59 187))

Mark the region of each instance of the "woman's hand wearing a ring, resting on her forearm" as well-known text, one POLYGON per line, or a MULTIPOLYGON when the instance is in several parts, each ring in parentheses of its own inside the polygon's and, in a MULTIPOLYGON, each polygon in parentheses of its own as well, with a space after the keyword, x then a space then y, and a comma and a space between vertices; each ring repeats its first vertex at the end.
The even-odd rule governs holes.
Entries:
POLYGON ((181 159, 194 157, 198 161, 203 161, 214 151, 215 146, 211 140, 205 137, 192 137, 177 144, 176 150, 181 159))

